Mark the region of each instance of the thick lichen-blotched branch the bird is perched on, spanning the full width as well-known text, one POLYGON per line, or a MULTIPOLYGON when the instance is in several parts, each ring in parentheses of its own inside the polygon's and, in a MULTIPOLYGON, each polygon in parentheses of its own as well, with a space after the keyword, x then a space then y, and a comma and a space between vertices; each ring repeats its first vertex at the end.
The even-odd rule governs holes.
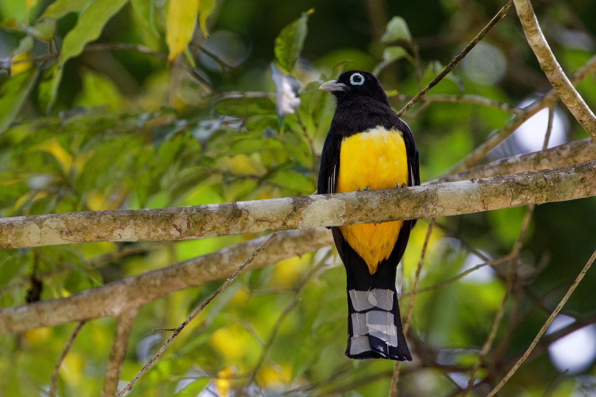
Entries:
POLYGON ((596 195, 596 161, 480 180, 154 210, 67 212, 0 220, 0 248, 185 240, 433 218, 596 195), (563 185, 561 185, 563 184, 563 185))

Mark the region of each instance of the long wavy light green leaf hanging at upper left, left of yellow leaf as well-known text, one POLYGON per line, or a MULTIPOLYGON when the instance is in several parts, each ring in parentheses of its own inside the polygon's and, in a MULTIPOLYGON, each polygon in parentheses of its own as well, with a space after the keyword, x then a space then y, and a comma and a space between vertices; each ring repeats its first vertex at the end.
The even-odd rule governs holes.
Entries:
POLYGON ((66 34, 62 43, 60 61, 51 82, 48 111, 56 101, 66 61, 83 52, 87 43, 97 40, 107 21, 120 11, 126 2, 128 0, 97 0, 80 14, 75 27, 66 34))

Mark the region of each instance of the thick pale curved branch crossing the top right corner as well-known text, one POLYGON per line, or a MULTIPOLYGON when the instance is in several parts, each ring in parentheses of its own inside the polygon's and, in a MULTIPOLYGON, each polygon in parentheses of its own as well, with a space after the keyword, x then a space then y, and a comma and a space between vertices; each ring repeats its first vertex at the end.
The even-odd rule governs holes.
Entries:
POLYGON ((573 114, 573 117, 578 120, 578 123, 596 142, 596 116, 567 79, 561 65, 552 54, 551 48, 538 25, 530 0, 514 0, 513 2, 516 5, 517 16, 519 16, 522 23, 527 42, 536 55, 542 71, 547 75, 548 81, 551 82, 557 95, 573 114))

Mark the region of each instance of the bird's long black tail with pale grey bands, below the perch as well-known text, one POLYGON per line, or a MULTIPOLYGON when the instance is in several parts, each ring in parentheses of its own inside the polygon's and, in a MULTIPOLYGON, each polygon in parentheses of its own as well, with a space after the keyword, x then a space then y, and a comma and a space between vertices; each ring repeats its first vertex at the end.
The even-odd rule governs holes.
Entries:
MULTIPOLYGON (((409 237, 410 227, 401 234, 409 237)), ((337 230, 339 232, 339 230, 337 230)), ((342 238, 341 233, 333 233, 342 238)), ((342 246, 342 256, 347 274, 347 338, 346 355, 349 358, 387 358, 411 361, 402 321, 399 314, 395 276, 405 244, 393 250, 389 259, 378 264, 370 274, 364 260, 347 243, 342 246)))

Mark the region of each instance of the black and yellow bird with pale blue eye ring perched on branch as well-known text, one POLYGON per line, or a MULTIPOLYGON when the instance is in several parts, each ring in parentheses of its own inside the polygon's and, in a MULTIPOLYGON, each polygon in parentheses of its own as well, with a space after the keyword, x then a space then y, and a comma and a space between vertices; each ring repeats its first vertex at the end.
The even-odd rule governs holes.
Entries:
MULTIPOLYGON (((418 149, 381 83, 346 71, 320 87, 336 99, 321 153, 317 193, 420 185, 418 149)), ((417 220, 329 227, 346 268, 346 356, 411 361, 403 334, 396 271, 417 220)))

